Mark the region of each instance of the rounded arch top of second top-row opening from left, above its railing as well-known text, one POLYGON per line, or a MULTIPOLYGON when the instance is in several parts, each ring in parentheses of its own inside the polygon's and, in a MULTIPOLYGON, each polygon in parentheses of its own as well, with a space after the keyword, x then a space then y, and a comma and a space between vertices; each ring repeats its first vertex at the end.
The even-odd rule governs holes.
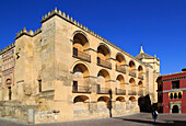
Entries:
POLYGON ((111 49, 104 43, 100 43, 98 47, 97 47, 97 55, 98 55, 100 58, 103 58, 103 56, 101 54, 106 58, 111 57, 111 49))

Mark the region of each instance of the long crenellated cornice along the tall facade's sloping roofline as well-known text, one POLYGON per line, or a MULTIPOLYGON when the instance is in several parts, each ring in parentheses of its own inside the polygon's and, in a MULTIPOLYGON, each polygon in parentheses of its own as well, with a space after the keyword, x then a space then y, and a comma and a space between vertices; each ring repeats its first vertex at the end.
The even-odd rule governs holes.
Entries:
POLYGON ((147 65, 140 60, 138 60, 136 57, 131 56, 130 54, 128 54, 127 51, 123 50, 121 48, 119 48, 118 46, 114 45, 113 43, 111 43, 109 41, 105 39, 104 37, 102 37, 101 35, 96 34, 95 32, 93 32, 92 30, 88 28, 86 26, 80 24, 79 22, 77 22, 75 20, 73 20, 72 18, 69 16, 69 14, 66 14, 65 12, 61 12, 60 10, 57 10, 57 8, 55 8, 55 10, 51 10, 51 12, 48 12, 47 14, 43 15, 40 23, 46 22, 47 20, 51 19, 53 16, 59 16, 61 19, 63 19, 65 21, 80 27, 81 30, 90 33, 91 35, 97 37, 98 39, 105 42, 106 44, 111 45, 112 47, 116 48, 117 50, 124 53, 125 55, 129 56, 130 58, 135 59, 136 61, 142 64, 146 67, 150 67, 153 68, 151 65, 147 65))

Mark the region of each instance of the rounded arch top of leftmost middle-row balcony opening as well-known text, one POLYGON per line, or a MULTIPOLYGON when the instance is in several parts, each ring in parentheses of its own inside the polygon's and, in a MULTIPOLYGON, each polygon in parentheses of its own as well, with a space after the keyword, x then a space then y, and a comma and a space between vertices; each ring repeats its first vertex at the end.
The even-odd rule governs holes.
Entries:
POLYGON ((86 67, 84 64, 77 64, 77 65, 73 67, 72 72, 73 72, 73 73, 75 73, 75 72, 81 72, 81 73, 83 75, 83 77, 90 76, 90 71, 89 71, 88 67, 86 67))

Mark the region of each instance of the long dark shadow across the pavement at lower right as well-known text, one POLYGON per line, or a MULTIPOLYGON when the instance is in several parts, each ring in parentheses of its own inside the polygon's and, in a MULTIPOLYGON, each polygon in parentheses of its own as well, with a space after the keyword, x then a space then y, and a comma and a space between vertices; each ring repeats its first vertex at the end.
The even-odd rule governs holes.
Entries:
POLYGON ((165 123, 153 121, 143 121, 143 119, 129 119, 129 118, 121 118, 121 117, 114 117, 127 122, 136 122, 136 123, 142 123, 142 124, 151 124, 151 125, 158 125, 158 126, 186 126, 186 121, 166 121, 165 123))

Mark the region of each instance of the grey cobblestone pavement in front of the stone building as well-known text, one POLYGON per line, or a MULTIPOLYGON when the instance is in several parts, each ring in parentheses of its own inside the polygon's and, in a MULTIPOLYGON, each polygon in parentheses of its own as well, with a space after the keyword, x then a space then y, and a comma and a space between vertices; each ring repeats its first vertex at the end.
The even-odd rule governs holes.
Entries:
POLYGON ((150 113, 139 113, 113 118, 26 125, 15 119, 0 118, 0 126, 186 126, 186 114, 159 114, 153 123, 150 113))

